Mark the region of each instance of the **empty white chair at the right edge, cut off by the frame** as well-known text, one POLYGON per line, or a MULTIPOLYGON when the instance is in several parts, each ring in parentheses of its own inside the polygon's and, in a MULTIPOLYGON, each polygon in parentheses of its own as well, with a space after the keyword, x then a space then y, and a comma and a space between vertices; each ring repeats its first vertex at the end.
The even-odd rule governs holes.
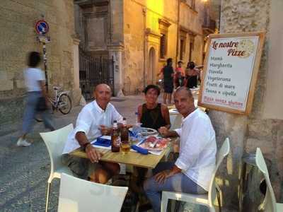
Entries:
POLYGON ((257 148, 255 155, 255 163, 258 166, 258 169, 262 172, 265 177, 265 182, 267 184, 265 199, 260 206, 260 209, 267 212, 282 212, 283 204, 276 203, 275 194, 271 187, 270 176, 268 175, 267 166, 265 163, 265 158, 263 158, 260 148, 257 148))

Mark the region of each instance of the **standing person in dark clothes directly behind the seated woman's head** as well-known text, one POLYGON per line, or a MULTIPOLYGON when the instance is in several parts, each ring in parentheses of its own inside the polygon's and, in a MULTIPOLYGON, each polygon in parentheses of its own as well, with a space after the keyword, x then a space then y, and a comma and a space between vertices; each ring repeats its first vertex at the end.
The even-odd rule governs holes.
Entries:
POLYGON ((171 96, 174 88, 174 70, 172 67, 172 58, 167 59, 167 64, 163 68, 163 80, 164 80, 164 94, 163 103, 166 104, 168 98, 168 104, 171 104, 171 96))

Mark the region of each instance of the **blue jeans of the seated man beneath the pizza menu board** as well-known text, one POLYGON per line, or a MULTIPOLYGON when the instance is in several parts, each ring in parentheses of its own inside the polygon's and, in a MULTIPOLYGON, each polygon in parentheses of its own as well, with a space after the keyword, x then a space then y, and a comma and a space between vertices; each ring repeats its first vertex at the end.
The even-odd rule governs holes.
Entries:
MULTIPOLYGON (((156 175, 158 172, 163 170, 171 170, 175 163, 174 162, 162 162, 158 163, 156 168, 153 170, 153 174, 156 175)), ((206 194, 202 187, 193 182, 189 177, 184 175, 182 172, 168 177, 163 184, 158 184, 154 177, 146 179, 144 182, 144 192, 151 201, 151 205, 154 212, 160 212, 161 210, 161 192, 184 192, 190 194, 206 194)))

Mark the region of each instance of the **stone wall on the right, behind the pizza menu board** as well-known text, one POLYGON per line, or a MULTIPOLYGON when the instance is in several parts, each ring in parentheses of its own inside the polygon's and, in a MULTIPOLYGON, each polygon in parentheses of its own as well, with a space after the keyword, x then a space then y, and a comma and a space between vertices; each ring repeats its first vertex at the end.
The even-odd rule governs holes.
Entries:
POLYGON ((279 21, 282 9, 283 2, 276 0, 231 0, 221 4, 220 33, 266 32, 252 112, 248 116, 209 112, 218 146, 226 136, 231 141, 227 169, 219 178, 229 211, 238 211, 241 158, 244 153, 255 153, 257 147, 270 161, 267 165, 272 187, 277 201, 283 201, 283 101, 279 83, 283 80, 283 24, 279 21))

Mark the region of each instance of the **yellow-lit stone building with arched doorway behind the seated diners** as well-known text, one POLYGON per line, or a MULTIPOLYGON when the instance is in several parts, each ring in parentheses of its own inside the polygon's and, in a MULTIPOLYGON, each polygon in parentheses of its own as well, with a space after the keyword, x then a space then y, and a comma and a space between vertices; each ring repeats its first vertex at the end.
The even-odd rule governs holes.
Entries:
POLYGON ((115 93, 128 95, 156 83, 169 57, 173 66, 202 64, 204 37, 214 31, 203 28, 205 14, 212 23, 206 8, 193 0, 77 0, 76 32, 88 54, 114 57, 115 93))

